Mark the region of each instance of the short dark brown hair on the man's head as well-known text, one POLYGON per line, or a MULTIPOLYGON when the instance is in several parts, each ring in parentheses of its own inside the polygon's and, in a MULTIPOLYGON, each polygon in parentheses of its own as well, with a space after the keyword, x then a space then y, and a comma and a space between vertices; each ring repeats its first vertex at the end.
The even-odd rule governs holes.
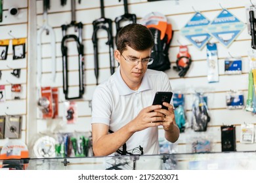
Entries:
POLYGON ((130 46, 134 50, 142 51, 154 46, 154 37, 146 26, 141 24, 128 24, 117 35, 117 50, 120 53, 130 46))

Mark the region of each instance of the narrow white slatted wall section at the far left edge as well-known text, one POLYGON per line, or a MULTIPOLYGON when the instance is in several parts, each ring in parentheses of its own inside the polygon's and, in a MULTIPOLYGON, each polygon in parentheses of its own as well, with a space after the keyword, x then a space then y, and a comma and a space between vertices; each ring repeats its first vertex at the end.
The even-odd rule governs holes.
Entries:
MULTIPOLYGON (((7 58, 0 60, 0 85, 5 87, 3 100, 0 102, 0 116, 7 119, 10 116, 20 116, 22 124, 20 126, 20 136, 26 142, 27 136, 27 101, 28 101, 28 1, 4 1, 3 16, 0 22, 0 39, 8 40, 7 58), (18 10, 16 14, 11 14, 11 10, 18 10), (14 40, 25 40, 24 58, 15 59, 14 40), (20 69, 20 74, 14 76, 20 69), (20 92, 12 92, 15 84, 20 86, 20 92), (16 97, 16 99, 15 99, 16 97)), ((3 48, 3 47, 2 47, 3 48)), ((1 50, 3 53, 3 50, 1 50)), ((23 53, 22 53, 23 54, 23 53)), ((2 129, 3 130, 3 129, 2 129)), ((2 131, 3 132, 3 131, 2 131)), ((8 136, 5 134, 5 136, 8 136)), ((0 139, 0 146, 3 146, 5 139, 0 139)))

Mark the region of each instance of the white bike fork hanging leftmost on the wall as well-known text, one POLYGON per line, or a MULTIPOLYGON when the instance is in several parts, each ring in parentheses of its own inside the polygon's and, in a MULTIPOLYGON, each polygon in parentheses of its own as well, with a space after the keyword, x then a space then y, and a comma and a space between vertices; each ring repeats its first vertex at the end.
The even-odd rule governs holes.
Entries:
POLYGON ((43 0, 43 25, 37 31, 37 85, 41 86, 42 78, 42 46, 41 35, 46 31, 47 35, 51 36, 51 59, 52 59, 52 80, 56 78, 56 45, 55 34, 53 28, 48 24, 47 10, 50 9, 50 0, 43 0))

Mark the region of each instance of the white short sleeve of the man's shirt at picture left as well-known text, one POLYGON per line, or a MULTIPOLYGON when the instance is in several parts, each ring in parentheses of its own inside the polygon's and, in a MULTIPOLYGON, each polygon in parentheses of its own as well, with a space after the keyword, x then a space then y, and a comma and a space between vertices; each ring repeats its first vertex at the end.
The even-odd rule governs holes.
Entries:
POLYGON ((91 124, 110 124, 111 99, 108 91, 98 86, 93 93, 91 124))

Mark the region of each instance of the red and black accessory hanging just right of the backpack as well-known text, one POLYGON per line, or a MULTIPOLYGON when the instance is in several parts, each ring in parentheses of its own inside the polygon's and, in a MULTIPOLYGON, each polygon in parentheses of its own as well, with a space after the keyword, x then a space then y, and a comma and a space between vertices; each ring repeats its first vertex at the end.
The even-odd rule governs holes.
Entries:
POLYGON ((184 77, 191 64, 191 56, 188 53, 188 46, 180 46, 180 52, 177 54, 176 65, 173 69, 179 71, 179 76, 184 77))

